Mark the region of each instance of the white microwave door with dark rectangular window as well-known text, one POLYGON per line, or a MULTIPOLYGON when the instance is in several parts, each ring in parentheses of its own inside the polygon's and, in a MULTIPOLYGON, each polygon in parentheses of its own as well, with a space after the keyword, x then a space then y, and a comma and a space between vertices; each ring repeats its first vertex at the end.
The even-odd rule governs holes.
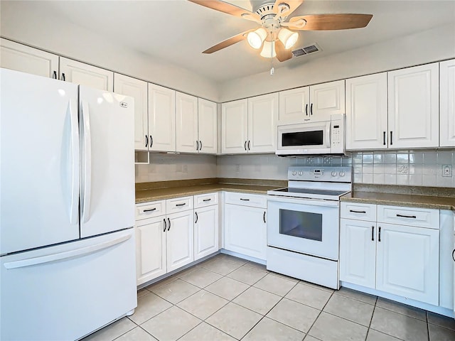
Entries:
POLYGON ((330 153, 330 121, 286 124, 277 127, 278 155, 330 153))

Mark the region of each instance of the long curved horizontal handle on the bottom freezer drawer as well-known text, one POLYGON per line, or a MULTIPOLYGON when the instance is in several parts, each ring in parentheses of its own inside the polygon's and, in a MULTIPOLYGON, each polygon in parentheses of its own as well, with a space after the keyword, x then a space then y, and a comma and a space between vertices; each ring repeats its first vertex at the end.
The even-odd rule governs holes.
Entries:
POLYGON ((57 254, 48 254, 46 256, 41 256, 41 257, 21 259, 20 261, 9 261, 8 263, 5 263, 4 266, 6 269, 17 269, 17 268, 23 268, 26 266, 50 263, 52 261, 61 261, 63 259, 86 256, 87 254, 92 254, 94 252, 104 250, 109 247, 113 247, 114 245, 125 242, 128 239, 130 239, 131 236, 132 236, 132 234, 127 234, 126 236, 122 236, 117 239, 109 240, 108 242, 102 242, 100 244, 90 245, 90 247, 82 247, 80 249, 75 249, 75 250, 71 250, 71 251, 59 252, 57 254))

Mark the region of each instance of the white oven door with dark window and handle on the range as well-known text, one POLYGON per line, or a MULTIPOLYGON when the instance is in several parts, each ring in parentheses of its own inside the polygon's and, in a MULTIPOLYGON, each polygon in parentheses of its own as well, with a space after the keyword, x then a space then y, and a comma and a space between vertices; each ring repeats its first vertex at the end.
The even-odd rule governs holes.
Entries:
POLYGON ((267 244, 338 260, 339 202, 273 197, 267 200, 267 244))

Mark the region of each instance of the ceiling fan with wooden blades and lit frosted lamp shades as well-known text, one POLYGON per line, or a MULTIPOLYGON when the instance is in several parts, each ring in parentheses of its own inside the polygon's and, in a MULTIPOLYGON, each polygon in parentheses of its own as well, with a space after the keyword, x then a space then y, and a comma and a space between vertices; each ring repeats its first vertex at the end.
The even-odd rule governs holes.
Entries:
POLYGON ((262 48, 260 53, 262 57, 276 57, 280 62, 292 58, 291 47, 299 38, 299 33, 295 31, 331 31, 362 28, 367 26, 373 17, 371 14, 310 14, 294 16, 286 22, 288 16, 304 0, 250 1, 253 11, 218 0, 188 1, 209 9, 228 13, 231 16, 255 21, 255 23, 261 25, 259 28, 248 30, 223 40, 221 43, 203 51, 203 53, 214 53, 247 39, 252 48, 257 50, 262 48))

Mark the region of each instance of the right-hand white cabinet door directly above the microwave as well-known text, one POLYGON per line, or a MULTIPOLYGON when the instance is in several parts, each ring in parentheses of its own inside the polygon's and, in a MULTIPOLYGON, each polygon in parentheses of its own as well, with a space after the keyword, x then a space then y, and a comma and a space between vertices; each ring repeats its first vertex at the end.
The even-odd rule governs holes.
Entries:
POLYGON ((310 87, 310 117, 344 114, 344 80, 328 82, 310 87))

